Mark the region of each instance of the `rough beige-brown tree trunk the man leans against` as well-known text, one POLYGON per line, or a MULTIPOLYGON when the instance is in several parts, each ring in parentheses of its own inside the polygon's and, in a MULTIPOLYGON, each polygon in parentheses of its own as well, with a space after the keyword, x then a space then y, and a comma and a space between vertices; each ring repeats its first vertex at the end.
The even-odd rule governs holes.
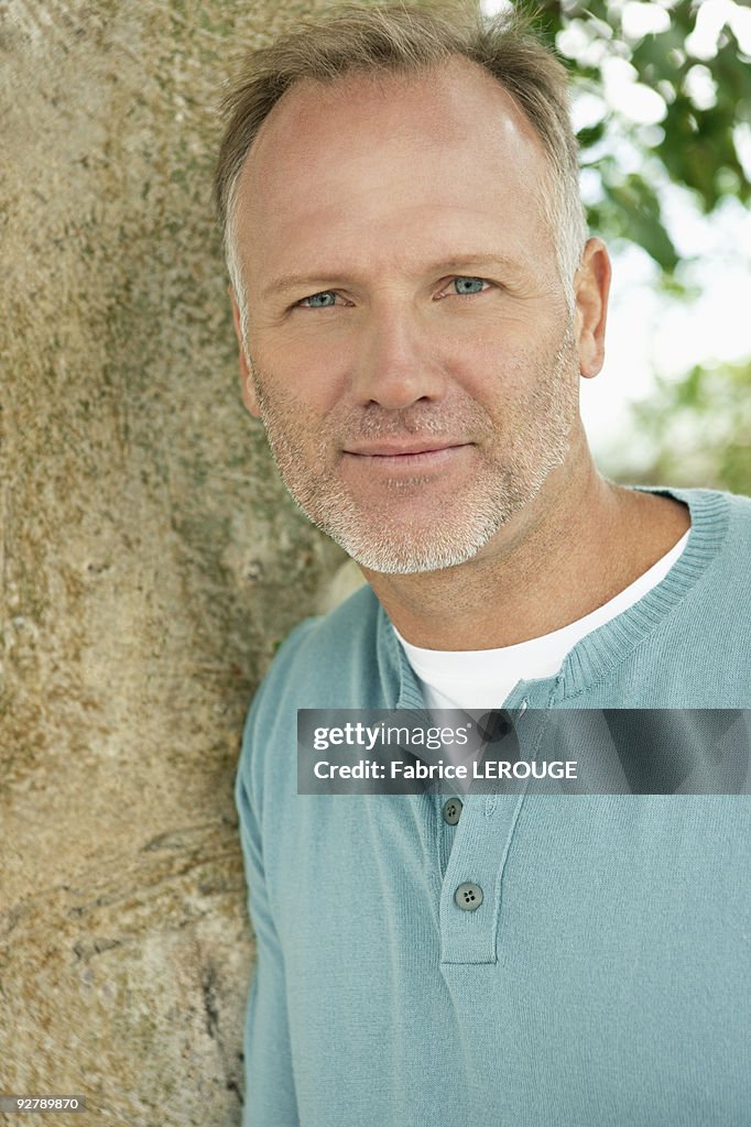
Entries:
POLYGON ((310 7, 1 12, 0 1093, 81 1127, 240 1119, 242 718, 341 556, 241 406, 210 189, 310 7))

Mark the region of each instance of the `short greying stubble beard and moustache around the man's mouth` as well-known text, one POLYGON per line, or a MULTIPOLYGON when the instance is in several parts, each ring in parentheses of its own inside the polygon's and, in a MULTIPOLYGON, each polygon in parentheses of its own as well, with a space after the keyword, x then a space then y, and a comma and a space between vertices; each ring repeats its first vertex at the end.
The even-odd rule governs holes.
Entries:
POLYGON ((469 398, 452 407, 450 417, 445 408, 416 403, 399 411, 379 408, 369 415, 361 408, 346 417, 334 418, 332 412, 324 420, 308 421, 299 402, 279 390, 270 394, 268 380, 249 366, 274 460, 295 504, 362 567, 383 575, 416 575, 471 560, 566 460, 578 417, 571 321, 553 355, 530 355, 527 363, 534 366, 537 378, 529 396, 515 405, 518 418, 504 427, 500 452, 494 449, 498 435, 492 417, 469 398), (470 437, 481 455, 471 482, 460 495, 447 496, 440 511, 425 520, 398 516, 400 491, 419 489, 419 477, 388 482, 395 502, 390 512, 354 497, 337 476, 333 459, 339 456, 343 442, 413 435, 436 441, 470 437))

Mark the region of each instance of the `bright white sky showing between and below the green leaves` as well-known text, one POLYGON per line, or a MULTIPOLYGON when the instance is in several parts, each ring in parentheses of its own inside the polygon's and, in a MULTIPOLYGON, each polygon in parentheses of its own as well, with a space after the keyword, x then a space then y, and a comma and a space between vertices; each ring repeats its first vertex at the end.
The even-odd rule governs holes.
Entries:
MULTIPOLYGON (((665 0, 670 3, 670 0, 665 0)), ((487 14, 509 7, 509 0, 483 0, 487 14)), ((670 20, 664 3, 620 0, 624 25, 633 34, 660 30, 670 20)), ((751 54, 751 8, 732 0, 703 0, 697 29, 687 39, 687 51, 697 59, 695 97, 712 104, 712 76, 701 60, 712 59, 717 37, 728 21, 744 52, 751 54)), ((559 42, 560 50, 586 47, 574 38, 559 42)), ((598 60, 599 61, 599 60, 598 60)), ((635 80, 625 60, 612 60, 604 73, 602 99, 574 96, 576 128, 602 117, 612 107, 645 130, 659 128, 664 113, 662 98, 635 80)), ((740 158, 751 177, 751 128, 736 135, 740 158)), ((612 132, 609 151, 628 170, 638 167, 630 143, 612 132)), ((681 256, 679 277, 699 295, 691 300, 669 298, 657 291, 659 270, 650 256, 636 246, 610 247, 613 282, 608 321, 608 350, 603 371, 595 380, 582 382, 582 414, 595 453, 608 460, 618 450, 630 455, 639 449, 638 435, 628 426, 628 405, 646 399, 655 374, 681 379, 699 362, 739 361, 751 355, 751 213, 737 199, 727 198, 710 219, 703 216, 691 195, 670 184, 656 185, 663 203, 669 233, 681 256)), ((582 177, 585 201, 594 190, 593 180, 582 177)), ((593 232, 597 233, 597 232, 593 232)))

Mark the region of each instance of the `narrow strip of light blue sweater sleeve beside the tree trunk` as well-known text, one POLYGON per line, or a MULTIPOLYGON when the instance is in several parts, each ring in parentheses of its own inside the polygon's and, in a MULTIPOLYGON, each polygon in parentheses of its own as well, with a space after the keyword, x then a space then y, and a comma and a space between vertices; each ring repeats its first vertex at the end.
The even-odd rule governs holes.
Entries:
MULTIPOLYGON (((251 710, 253 716, 253 710, 251 710)), ((299 1127, 288 1023, 284 959, 270 908, 258 810, 254 805, 248 722, 235 798, 257 961, 245 1024, 242 1127, 299 1127)))

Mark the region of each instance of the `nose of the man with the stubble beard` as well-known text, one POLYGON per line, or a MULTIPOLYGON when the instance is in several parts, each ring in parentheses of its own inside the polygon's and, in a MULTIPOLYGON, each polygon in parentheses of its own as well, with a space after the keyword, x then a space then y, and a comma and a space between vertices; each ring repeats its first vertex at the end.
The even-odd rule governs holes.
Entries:
POLYGON ((352 390, 359 403, 391 410, 443 397, 439 341, 415 310, 371 311, 359 341, 352 390))

